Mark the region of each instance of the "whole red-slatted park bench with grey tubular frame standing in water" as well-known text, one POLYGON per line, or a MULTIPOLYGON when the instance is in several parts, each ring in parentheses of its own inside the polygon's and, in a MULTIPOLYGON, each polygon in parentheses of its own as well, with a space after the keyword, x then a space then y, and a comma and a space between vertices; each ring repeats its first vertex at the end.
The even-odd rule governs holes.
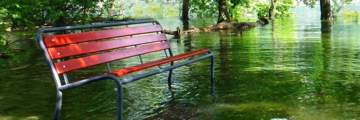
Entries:
MULTIPOLYGON (((117 84, 117 108, 118 120, 122 119, 123 90, 122 85, 156 75, 165 71, 170 71, 168 84, 171 87, 172 70, 177 67, 188 65, 205 58, 211 58, 211 94, 214 93, 214 56, 209 49, 198 49, 192 52, 173 55, 170 45, 164 34, 162 27, 156 20, 127 21, 104 23, 95 25, 67 26, 43 28, 37 32, 37 42, 39 43, 45 61, 54 77, 57 89, 57 104, 55 107, 54 120, 59 118, 62 105, 62 92, 77 86, 94 83, 96 81, 111 79, 117 84), (135 27, 129 27, 129 25, 135 27), (98 30, 96 28, 116 27, 108 30, 98 30), (123 26, 123 28, 120 28, 123 26), (71 33, 63 35, 49 35, 49 33, 65 32, 72 30, 91 30, 89 32, 71 33), (45 34, 45 37, 44 37, 45 34), (163 58, 156 61, 143 62, 141 55, 152 52, 164 52, 163 58), (89 54, 90 53, 90 54, 89 54), (197 55, 197 57, 193 57, 197 55), (124 67, 118 70, 111 70, 109 62, 139 56, 138 65, 124 67), (188 59, 192 57, 192 59, 188 59), (185 59, 184 62, 174 64, 174 61, 185 59), (167 67, 161 65, 168 63, 167 67), (67 72, 87 68, 99 64, 106 64, 108 72, 101 75, 94 75, 82 80, 68 80, 67 72), (169 65, 170 64, 170 65, 169 65), (123 77, 132 72, 144 70, 150 67, 158 67, 153 71, 123 77), (60 75, 63 79, 60 80, 60 75), (119 77, 123 77, 119 79, 119 77), (63 82, 62 82, 63 81, 63 82)), ((157 56, 158 57, 158 56, 157 56)), ((77 71, 81 72, 81 71, 77 71)), ((81 74, 77 74, 81 78, 81 74)))

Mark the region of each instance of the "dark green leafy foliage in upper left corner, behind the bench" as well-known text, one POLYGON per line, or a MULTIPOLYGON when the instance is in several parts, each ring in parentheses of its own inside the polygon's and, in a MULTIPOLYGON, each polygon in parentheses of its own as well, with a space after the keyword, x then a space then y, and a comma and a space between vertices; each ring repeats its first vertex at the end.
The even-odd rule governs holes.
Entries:
POLYGON ((16 27, 85 24, 103 14, 114 0, 3 0, 0 3, 0 22, 16 27), (98 3, 104 3, 102 7, 98 3), (36 13, 36 14, 34 14, 36 13), (76 21, 76 22, 74 22, 76 21))

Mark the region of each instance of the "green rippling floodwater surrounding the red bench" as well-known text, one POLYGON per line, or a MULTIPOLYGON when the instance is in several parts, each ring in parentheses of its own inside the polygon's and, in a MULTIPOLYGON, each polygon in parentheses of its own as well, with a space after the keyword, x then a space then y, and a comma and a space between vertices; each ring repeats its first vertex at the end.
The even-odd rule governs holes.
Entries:
MULTIPOLYGON (((350 6, 351 10, 360 8, 350 6)), ((352 19, 320 21, 319 8, 292 9, 249 29, 167 35, 174 54, 208 48, 215 55, 215 94, 210 95, 210 59, 177 68, 172 89, 167 74, 124 85, 124 118, 129 120, 358 120, 360 119, 360 24, 352 19), (240 33, 242 36, 231 36, 240 33)), ((239 21, 255 22, 252 17, 239 21)), ((164 29, 206 27, 216 19, 184 23, 158 19, 164 29)), ((56 92, 49 69, 32 36, 19 44, 29 56, 0 69, 0 120, 49 120, 56 92)), ((148 61, 156 57, 143 57, 148 61)), ((112 62, 138 64, 136 57, 112 62), (130 62, 130 63, 126 63, 130 62)), ((69 74, 81 79, 106 72, 105 65, 69 74), (84 73, 85 72, 85 73, 84 73)), ((140 71, 136 74, 144 73, 140 71)), ((116 85, 105 80, 64 92, 62 120, 116 119, 116 85)))

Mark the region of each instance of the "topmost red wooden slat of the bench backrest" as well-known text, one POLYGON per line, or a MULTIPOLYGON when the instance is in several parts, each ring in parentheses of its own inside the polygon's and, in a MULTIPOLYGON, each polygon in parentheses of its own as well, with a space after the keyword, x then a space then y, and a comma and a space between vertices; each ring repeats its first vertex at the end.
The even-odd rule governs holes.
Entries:
POLYGON ((44 43, 46 47, 54 47, 60 45, 111 39, 115 37, 123 37, 130 35, 147 34, 147 33, 160 32, 160 31, 162 31, 160 25, 127 27, 127 28, 118 28, 111 30, 100 30, 100 31, 81 32, 74 34, 46 36, 44 37, 44 43))

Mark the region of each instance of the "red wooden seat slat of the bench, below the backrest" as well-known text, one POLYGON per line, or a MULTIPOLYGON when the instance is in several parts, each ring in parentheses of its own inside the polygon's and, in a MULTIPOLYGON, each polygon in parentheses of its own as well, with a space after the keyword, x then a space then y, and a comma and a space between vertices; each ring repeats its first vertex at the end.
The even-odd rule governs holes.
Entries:
POLYGON ((209 49, 199 49, 199 50, 195 50, 195 51, 192 51, 192 52, 178 54, 178 55, 174 55, 174 56, 167 57, 167 58, 164 58, 164 59, 159 59, 157 61, 147 62, 147 63, 144 63, 144 64, 140 64, 140 65, 131 66, 131 67, 128 67, 128 68, 123 68, 123 69, 111 71, 111 72, 108 72, 107 74, 113 74, 113 75, 116 75, 116 76, 123 76, 123 75, 126 75, 126 74, 130 74, 132 72, 144 70, 146 68, 162 65, 162 64, 177 61, 177 60, 180 60, 180 59, 185 59, 185 58, 192 57, 192 56, 195 56, 195 55, 198 55, 198 54, 201 54, 201 53, 205 53, 205 52, 209 52, 209 51, 210 51, 209 49))

